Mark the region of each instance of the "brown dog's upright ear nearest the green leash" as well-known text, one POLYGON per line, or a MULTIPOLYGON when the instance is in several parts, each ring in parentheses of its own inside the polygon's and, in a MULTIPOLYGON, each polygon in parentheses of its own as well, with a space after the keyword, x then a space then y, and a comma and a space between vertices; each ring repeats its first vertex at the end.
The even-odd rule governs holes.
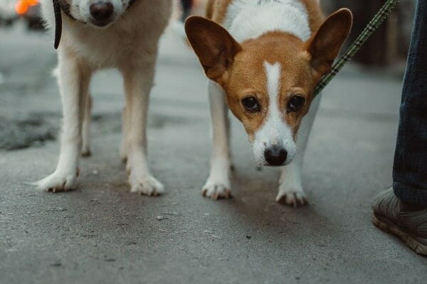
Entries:
POLYGON ((352 29, 353 16, 349 9, 332 13, 319 30, 307 41, 312 68, 319 77, 330 70, 344 40, 352 29))

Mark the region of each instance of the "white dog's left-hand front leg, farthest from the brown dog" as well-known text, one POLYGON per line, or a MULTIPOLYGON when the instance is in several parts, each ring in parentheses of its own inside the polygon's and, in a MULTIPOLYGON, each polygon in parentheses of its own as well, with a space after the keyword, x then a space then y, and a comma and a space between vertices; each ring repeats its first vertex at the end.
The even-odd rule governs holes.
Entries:
POLYGON ((75 188, 82 146, 82 121, 91 71, 66 50, 58 50, 58 85, 63 106, 63 129, 58 165, 53 174, 36 182, 43 190, 75 188))

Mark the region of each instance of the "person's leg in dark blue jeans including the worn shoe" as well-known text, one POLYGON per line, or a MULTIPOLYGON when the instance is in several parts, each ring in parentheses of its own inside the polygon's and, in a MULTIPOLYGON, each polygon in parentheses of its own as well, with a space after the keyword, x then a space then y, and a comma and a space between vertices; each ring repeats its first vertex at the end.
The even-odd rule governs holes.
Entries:
POLYGON ((402 90, 393 187, 375 199, 373 222, 427 255, 427 2, 416 16, 402 90))

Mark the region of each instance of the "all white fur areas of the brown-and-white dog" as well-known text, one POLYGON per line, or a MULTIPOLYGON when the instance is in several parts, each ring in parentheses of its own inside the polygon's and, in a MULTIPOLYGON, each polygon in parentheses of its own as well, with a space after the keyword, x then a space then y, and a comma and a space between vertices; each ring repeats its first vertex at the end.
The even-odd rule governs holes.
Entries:
MULTIPOLYGON (((226 13, 224 26, 238 41, 257 38, 268 31, 284 31, 292 33, 301 40, 311 36, 308 26, 308 15, 305 7, 297 0, 263 1, 257 5, 255 0, 234 0, 226 13), (280 2, 280 3, 279 3, 280 2), (291 20, 291 21, 290 21, 291 20)), ((280 65, 265 62, 265 77, 268 78, 266 89, 269 97, 277 97, 280 80, 280 65)), ((228 115, 225 102, 225 92, 216 82, 209 80, 209 99, 211 102, 211 119, 213 126, 213 150, 211 155, 211 171, 204 185, 204 195, 211 198, 230 194, 230 152, 228 147, 228 115)), ((283 143, 288 151, 286 165, 282 169, 279 190, 276 201, 283 200, 286 204, 297 206, 305 204, 306 196, 302 190, 301 170, 302 159, 307 145, 307 138, 320 104, 320 96, 310 106, 309 113, 302 119, 298 131, 296 145, 292 133, 282 119, 275 118, 274 111, 278 109, 277 99, 270 99, 269 119, 255 134, 253 151, 255 159, 264 164, 266 146, 273 143, 283 143), (280 141, 281 140, 281 141, 280 141), (293 158, 293 159, 292 159, 293 158)))

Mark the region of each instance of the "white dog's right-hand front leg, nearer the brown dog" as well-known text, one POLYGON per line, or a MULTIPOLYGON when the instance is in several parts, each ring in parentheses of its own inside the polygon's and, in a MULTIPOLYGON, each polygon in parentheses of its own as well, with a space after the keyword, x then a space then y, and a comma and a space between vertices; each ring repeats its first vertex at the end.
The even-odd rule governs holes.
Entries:
POLYGON ((126 106, 123 128, 122 158, 127 158, 130 191, 155 196, 164 192, 163 185, 149 172, 147 165, 147 111, 154 76, 154 62, 144 69, 122 70, 125 80, 126 106))

